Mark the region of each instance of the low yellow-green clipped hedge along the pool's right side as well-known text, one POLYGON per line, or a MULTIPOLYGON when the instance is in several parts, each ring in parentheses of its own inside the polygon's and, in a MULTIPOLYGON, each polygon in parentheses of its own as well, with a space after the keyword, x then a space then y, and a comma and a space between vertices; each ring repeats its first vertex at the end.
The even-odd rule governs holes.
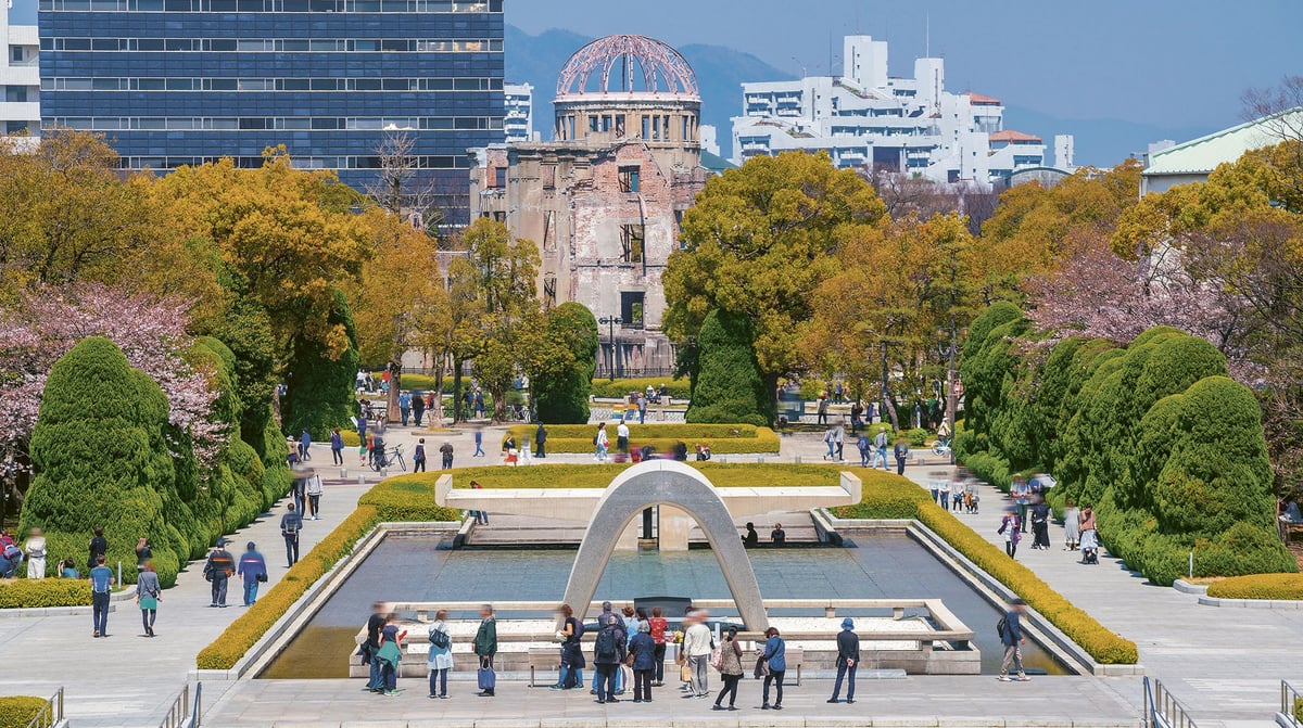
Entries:
POLYGON ((840 518, 917 518, 937 535, 999 580, 1063 630, 1101 664, 1135 664, 1136 646, 1097 623, 1041 581, 1031 569, 1010 559, 962 521, 928 497, 926 491, 887 473, 864 473, 864 497, 856 505, 834 508, 840 518))

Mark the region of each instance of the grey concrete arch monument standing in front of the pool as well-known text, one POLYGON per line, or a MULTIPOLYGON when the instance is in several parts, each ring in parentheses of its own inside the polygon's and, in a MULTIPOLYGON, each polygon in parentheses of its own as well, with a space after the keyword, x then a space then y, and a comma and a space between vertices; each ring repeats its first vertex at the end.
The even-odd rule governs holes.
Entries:
POLYGON ((638 513, 653 505, 672 505, 696 518, 719 560, 719 568, 747 629, 767 629, 769 616, 760 596, 760 582, 756 581, 756 572, 734 527, 728 508, 701 471, 672 460, 635 465, 606 487, 589 518, 588 531, 566 585, 566 603, 575 608, 576 616, 582 619, 593 602, 597 583, 611 560, 620 534, 638 513))

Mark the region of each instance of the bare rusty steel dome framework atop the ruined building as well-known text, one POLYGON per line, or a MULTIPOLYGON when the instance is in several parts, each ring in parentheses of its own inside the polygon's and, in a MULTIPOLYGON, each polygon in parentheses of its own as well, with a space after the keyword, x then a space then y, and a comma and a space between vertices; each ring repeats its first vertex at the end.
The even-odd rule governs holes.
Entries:
POLYGON ((609 35, 576 51, 556 79, 558 98, 633 92, 696 98, 697 77, 678 51, 654 38, 609 35), (594 77, 601 85, 590 90, 594 77))

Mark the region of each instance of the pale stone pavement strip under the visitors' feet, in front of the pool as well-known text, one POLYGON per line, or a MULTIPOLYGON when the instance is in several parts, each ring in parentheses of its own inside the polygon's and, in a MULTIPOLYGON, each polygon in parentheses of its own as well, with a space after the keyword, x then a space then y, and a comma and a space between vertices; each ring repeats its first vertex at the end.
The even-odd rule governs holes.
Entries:
MULTIPOLYGON (((674 665, 666 665, 672 668, 674 665)), ((831 680, 788 685, 783 711, 761 711, 761 684, 743 680, 736 712, 710 710, 713 699, 681 698, 670 686, 654 688, 652 703, 633 705, 625 693, 614 706, 599 706, 588 690, 559 693, 545 680, 499 682, 496 698, 474 695, 474 675, 453 672, 447 701, 431 701, 425 680, 400 680, 397 697, 360 692, 360 680, 249 680, 228 692, 205 716, 224 728, 384 728, 384 727, 668 727, 735 725, 1083 725, 1138 727, 1139 712, 1117 688, 1135 679, 1053 677, 1032 682, 997 682, 982 676, 929 676, 864 680, 856 703, 829 705, 831 680)), ((675 668, 676 669, 676 668, 675 668)), ((668 672, 668 671, 667 671, 668 672)), ((711 671, 710 688, 719 689, 711 671)), ((585 673, 585 679, 588 675, 585 673)), ((788 680, 792 676, 788 675, 788 680)), ((711 698, 715 693, 711 693, 711 698)), ((843 695, 844 697, 844 695, 843 695)))

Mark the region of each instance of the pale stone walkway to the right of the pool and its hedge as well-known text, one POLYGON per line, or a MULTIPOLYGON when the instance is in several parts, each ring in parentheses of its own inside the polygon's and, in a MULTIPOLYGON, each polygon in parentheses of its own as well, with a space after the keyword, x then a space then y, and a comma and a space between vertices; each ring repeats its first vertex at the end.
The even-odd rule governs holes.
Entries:
MULTIPOLYGON (((937 468, 909 468, 925 483, 937 468)), ((995 533, 1007 497, 984 486, 980 514, 956 514, 986 540, 1005 547, 995 533)), ((1028 529, 1029 530, 1029 529, 1028 529)), ((1158 679, 1186 706, 1200 728, 1272 725, 1280 707, 1280 681, 1303 681, 1299 645, 1303 611, 1204 607, 1197 596, 1154 586, 1121 560, 1101 553, 1100 564, 1079 564, 1063 551, 1063 527, 1050 526, 1049 551, 1032 551, 1029 535, 1018 560, 1101 624, 1140 647, 1145 675, 1158 679)), ((1140 705, 1139 682, 1127 697, 1140 705)))

